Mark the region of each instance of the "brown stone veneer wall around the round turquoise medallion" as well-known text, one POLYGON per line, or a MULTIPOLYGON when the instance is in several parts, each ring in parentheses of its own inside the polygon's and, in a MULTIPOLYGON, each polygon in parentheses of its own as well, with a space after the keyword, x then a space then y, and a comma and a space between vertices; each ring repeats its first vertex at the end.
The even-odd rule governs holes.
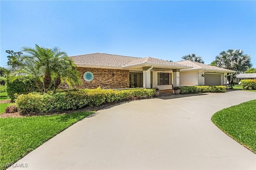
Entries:
MULTIPOLYGON (((102 89, 120 89, 129 88, 129 70, 122 69, 100 69, 100 68, 86 68, 77 67, 81 75, 82 85, 80 89, 95 89, 101 87, 102 89), (92 81, 85 81, 83 75, 86 71, 91 71, 94 75, 92 81), (114 73, 114 76, 112 75, 114 73)), ((67 89, 67 84, 61 84, 60 89, 67 89)))

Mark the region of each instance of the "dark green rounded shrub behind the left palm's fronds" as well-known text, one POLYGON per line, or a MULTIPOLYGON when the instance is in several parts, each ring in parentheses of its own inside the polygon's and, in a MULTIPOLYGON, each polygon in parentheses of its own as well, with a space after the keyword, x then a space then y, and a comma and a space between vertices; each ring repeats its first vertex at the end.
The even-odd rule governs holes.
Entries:
POLYGON ((16 76, 14 81, 10 82, 10 79, 13 79, 13 77, 14 76, 10 76, 6 78, 6 92, 12 101, 15 99, 15 93, 28 94, 33 91, 39 91, 33 77, 20 75, 16 76))

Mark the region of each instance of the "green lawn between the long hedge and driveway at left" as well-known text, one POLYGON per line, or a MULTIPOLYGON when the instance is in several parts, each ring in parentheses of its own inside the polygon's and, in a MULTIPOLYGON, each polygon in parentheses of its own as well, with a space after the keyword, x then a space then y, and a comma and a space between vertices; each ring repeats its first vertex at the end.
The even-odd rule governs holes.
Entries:
POLYGON ((0 118, 0 170, 92 113, 0 118))

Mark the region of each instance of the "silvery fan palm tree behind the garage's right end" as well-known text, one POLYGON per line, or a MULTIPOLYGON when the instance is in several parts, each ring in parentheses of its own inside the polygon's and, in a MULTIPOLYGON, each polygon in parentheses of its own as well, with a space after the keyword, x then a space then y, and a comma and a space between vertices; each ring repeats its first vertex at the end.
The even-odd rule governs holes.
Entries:
MULTIPOLYGON (((252 67, 251 57, 248 54, 243 54, 242 49, 228 49, 227 51, 220 52, 216 56, 216 66, 224 69, 230 69, 237 71, 240 74, 252 67)), ((236 75, 228 76, 228 81, 230 83, 231 79, 235 79, 236 75)))

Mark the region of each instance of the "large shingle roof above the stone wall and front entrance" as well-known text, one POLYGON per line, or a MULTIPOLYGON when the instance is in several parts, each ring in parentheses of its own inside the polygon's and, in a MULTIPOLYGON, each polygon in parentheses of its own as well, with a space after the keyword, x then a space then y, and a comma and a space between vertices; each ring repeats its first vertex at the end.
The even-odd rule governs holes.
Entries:
POLYGON ((163 64, 168 66, 181 66, 187 67, 179 63, 169 62, 162 59, 152 58, 152 57, 128 57, 122 55, 112 55, 105 53, 92 53, 86 55, 76 55, 71 57, 76 65, 86 65, 86 66, 102 66, 102 67, 129 67, 133 65, 150 63, 150 64, 163 64))

